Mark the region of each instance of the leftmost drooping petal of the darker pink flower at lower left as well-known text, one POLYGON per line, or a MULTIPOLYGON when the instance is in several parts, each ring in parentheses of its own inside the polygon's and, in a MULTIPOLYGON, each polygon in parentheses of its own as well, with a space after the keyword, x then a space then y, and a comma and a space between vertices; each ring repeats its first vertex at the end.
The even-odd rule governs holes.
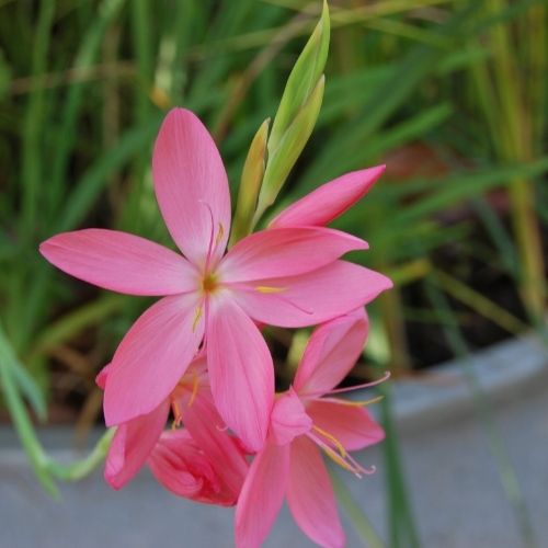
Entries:
POLYGON ((169 414, 169 401, 151 413, 121 424, 109 448, 104 478, 114 488, 123 488, 140 469, 152 452, 169 414))

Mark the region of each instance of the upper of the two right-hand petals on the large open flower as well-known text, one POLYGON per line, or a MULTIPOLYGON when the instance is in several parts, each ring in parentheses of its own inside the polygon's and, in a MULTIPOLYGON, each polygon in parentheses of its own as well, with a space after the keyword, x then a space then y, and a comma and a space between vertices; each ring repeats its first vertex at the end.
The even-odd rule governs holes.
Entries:
POLYGON ((358 249, 367 249, 367 243, 331 228, 263 230, 240 240, 222 260, 217 274, 226 283, 294 276, 358 249))

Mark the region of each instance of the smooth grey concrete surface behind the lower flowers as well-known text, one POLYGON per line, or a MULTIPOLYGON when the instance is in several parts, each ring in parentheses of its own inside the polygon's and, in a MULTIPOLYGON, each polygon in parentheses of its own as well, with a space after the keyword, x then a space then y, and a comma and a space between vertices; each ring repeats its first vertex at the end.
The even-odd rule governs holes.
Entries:
MULTIPOLYGON (((514 341, 479 356, 476 366, 481 384, 494 396, 496 424, 515 466, 539 546, 548 546, 548 375, 546 355, 537 351, 533 359, 530 342, 514 341), (496 368, 499 373, 506 368, 506 374, 498 376, 496 368)), ((400 383, 395 388, 402 460, 422 545, 521 547, 487 436, 468 391, 461 390, 465 383, 459 372, 458 364, 453 364, 420 383, 400 383), (422 391, 421 385, 425 385, 422 391), (445 390, 445 396, 441 397, 439 390, 445 390), (444 411, 444 402, 450 413, 444 411)), ((62 449, 70 444, 67 432, 45 431, 43 435, 58 455, 67 453, 62 449)), ((176 499, 146 472, 119 492, 112 491, 96 473, 80 483, 61 486, 62 501, 53 502, 28 471, 13 433, 0 431, 0 547, 232 546, 232 510, 176 499)), ((381 452, 375 448, 358 459, 376 465, 377 473, 356 480, 344 472, 344 478, 375 527, 386 536, 381 452)), ((362 546, 351 524, 343 521, 349 546, 362 546)), ((312 545, 284 509, 265 546, 312 545)))

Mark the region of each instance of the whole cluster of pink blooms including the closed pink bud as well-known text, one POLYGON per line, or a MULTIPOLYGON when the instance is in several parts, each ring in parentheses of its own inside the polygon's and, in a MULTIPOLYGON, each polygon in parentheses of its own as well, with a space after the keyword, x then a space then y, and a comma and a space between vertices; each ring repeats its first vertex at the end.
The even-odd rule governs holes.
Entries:
POLYGON ((162 297, 98 377, 106 424, 116 426, 106 480, 119 489, 148 464, 178 495, 237 504, 239 547, 261 545, 286 498, 313 541, 343 546, 321 452, 359 476, 367 470, 347 452, 384 436, 359 402, 335 397, 335 387, 365 344, 364 305, 391 282, 342 260, 367 243, 326 225, 357 202, 384 167, 320 186, 229 251, 226 171, 190 111, 165 117, 152 171, 182 254, 103 229, 60 233, 41 246, 49 262, 80 279, 162 297), (319 324, 283 393, 275 393, 262 324, 319 324), (173 427, 165 430, 170 413, 173 427))

